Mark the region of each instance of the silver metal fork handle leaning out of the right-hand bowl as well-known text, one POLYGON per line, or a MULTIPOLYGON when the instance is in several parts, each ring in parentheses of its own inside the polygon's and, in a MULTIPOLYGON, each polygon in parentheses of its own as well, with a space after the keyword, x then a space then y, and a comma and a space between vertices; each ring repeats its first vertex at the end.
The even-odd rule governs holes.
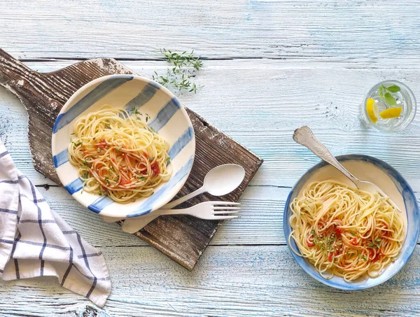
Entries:
POLYGON ((293 140, 295 140, 297 143, 302 144, 302 146, 309 148, 309 150, 312 151, 316 156, 324 160, 325 162, 331 164, 333 167, 338 169, 342 172, 347 178, 350 179, 355 185, 358 179, 353 176, 349 171, 345 169, 342 164, 340 164, 337 159, 334 157, 334 155, 331 154, 331 152, 326 148, 323 143, 318 141, 316 137, 314 136, 314 132, 309 129, 306 125, 303 127, 299 127, 295 130, 295 133, 293 134, 293 140))

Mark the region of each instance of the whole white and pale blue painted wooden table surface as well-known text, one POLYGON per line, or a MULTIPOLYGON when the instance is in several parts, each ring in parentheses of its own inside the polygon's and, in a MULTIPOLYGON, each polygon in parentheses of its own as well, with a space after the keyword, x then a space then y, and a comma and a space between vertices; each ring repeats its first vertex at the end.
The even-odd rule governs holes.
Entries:
MULTIPOLYGON (((318 162, 292 140, 300 125, 335 155, 388 162, 420 197, 419 115, 400 134, 358 120, 380 80, 420 96, 419 16, 420 1, 408 0, 2 0, 0 47, 38 71, 114 57, 151 77, 167 68, 155 50, 194 49, 204 87, 179 99, 265 160, 241 218, 223 224, 188 272, 34 171, 25 108, 0 87, 0 138, 15 164, 105 255, 113 288, 99 316, 419 316, 419 248, 387 283, 346 292, 300 269, 282 227, 290 187, 318 162)), ((0 316, 88 316, 91 304, 53 278, 0 282, 0 297, 0 316)))

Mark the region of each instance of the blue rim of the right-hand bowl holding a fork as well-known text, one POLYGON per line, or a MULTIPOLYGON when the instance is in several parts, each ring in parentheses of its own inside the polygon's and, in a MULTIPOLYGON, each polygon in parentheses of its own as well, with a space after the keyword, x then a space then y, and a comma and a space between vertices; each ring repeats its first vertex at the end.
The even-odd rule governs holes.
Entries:
MULTIPOLYGON (((393 167, 391 167, 391 165, 389 165, 388 163, 377 159, 376 157, 372 157, 369 155, 358 155, 358 154, 346 154, 346 155, 339 155, 336 157, 337 160, 339 160, 339 162, 346 162, 346 161, 363 161, 363 162, 368 162, 370 164, 374 164, 376 167, 379 167, 380 169, 386 171, 386 174, 388 176, 391 176, 391 180, 393 181, 393 183, 396 185, 395 181, 398 182, 399 184, 405 184, 403 186, 403 190, 407 190, 409 195, 412 195, 415 198, 414 195, 414 191, 412 190, 411 186, 407 183, 407 181, 405 181, 405 179, 402 177, 402 175, 393 167)), ((311 167, 310 169, 308 169, 300 178, 299 180, 295 183, 295 185, 293 185, 292 190, 290 190, 290 193, 287 197, 286 200, 286 205, 284 206, 284 213, 283 213, 283 232, 284 232, 284 236, 286 239, 286 244, 290 250, 290 253, 292 253, 293 258, 295 258, 296 262, 298 265, 300 265, 300 267, 302 267, 302 269, 304 270, 304 272, 307 272, 307 274, 309 276, 311 276, 313 279, 316 279, 316 281, 320 281, 321 283, 325 284, 326 286, 330 286, 332 288, 337 288, 339 290, 363 290, 366 288, 372 288, 374 286, 378 286, 381 283, 384 283, 386 281, 388 281, 389 279, 391 279, 395 274, 397 274, 398 272, 400 272, 400 270, 402 269, 402 267, 404 267, 409 258, 412 257, 412 254, 414 253, 414 249, 416 248, 416 244, 417 244, 417 239, 419 237, 419 231, 420 231, 420 225, 419 225, 419 205, 417 204, 417 200, 414 199, 414 220, 416 222, 416 232, 414 234, 414 237, 416 239, 414 246, 412 246, 411 248, 407 248, 407 250, 405 251, 405 253, 402 253, 401 257, 402 257, 402 262, 398 267, 395 267, 395 271, 392 272, 391 274, 389 274, 387 276, 387 278, 383 281, 379 281, 377 283, 371 283, 369 285, 357 285, 357 284, 353 284, 353 283, 346 283, 344 282, 344 279, 342 280, 344 283, 346 284, 338 284, 335 282, 332 282, 330 279, 324 279, 320 274, 318 274, 318 272, 314 273, 313 271, 309 270, 309 267, 313 267, 313 265, 308 262, 307 260, 305 260, 304 258, 301 258, 300 256, 297 256, 291 249, 291 246, 289 244, 289 235, 291 232, 291 227, 289 225, 289 206, 290 206, 290 199, 292 197, 292 195, 297 191, 300 192, 300 190, 302 189, 302 185, 304 185, 309 178, 314 174, 315 171, 318 171, 318 169, 321 169, 322 167, 327 166, 328 163, 321 161, 318 164, 314 165, 314 167, 311 167), (302 184, 299 188, 297 188, 298 185, 302 184)), ((404 199, 404 204, 405 204, 405 209, 407 212, 407 206, 405 203, 405 199, 404 199)), ((406 239, 404 241, 404 244, 409 243, 409 241, 407 241, 407 234, 409 231, 409 223, 408 223, 408 217, 407 217, 407 233, 406 233, 406 239)), ((297 246, 295 246, 295 250, 297 249, 297 246)), ((371 279, 372 281, 374 281, 374 279, 371 279)))

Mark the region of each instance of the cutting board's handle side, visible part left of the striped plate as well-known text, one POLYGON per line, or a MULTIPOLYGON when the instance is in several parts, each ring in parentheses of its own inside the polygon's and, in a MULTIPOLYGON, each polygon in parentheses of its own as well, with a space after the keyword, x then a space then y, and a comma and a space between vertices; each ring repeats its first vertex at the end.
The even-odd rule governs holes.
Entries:
POLYGON ((38 73, 0 49, 0 85, 15 94, 28 112, 29 149, 34 167, 60 184, 52 163, 55 119, 78 88, 113 73, 131 73, 115 59, 92 59, 51 73, 38 73))

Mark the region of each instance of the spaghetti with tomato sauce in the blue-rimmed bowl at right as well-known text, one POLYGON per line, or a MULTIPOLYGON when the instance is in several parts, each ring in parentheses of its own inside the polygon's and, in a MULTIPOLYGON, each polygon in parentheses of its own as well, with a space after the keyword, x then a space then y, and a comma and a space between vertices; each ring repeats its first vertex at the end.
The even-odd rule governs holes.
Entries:
POLYGON ((387 197, 321 181, 290 204, 289 236, 325 279, 376 277, 400 253, 405 227, 387 197))

